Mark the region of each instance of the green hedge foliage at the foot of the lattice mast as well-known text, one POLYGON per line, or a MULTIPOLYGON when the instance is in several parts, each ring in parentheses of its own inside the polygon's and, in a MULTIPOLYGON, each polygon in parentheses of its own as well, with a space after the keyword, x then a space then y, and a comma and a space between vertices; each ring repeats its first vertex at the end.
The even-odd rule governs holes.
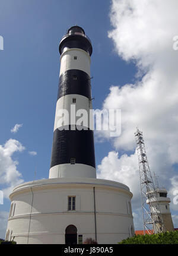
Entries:
POLYGON ((178 244, 178 230, 152 235, 135 235, 118 244, 178 244))

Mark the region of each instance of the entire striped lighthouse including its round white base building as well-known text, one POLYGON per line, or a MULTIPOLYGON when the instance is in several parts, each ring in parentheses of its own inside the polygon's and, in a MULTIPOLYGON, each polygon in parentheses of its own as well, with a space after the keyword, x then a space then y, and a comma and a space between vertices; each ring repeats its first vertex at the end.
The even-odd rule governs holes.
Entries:
POLYGON ((82 244, 92 238, 98 244, 117 244, 134 236, 132 192, 120 182, 96 178, 89 118, 92 45, 84 29, 71 27, 59 53, 49 178, 13 189, 6 239, 17 244, 82 244), (88 114, 87 120, 82 113, 88 114))

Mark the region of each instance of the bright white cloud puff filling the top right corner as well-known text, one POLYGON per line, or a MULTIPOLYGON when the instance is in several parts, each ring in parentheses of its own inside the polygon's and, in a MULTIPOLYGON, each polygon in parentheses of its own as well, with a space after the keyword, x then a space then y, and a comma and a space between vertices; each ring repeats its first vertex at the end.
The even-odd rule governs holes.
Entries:
MULTIPOLYGON (((109 37, 115 43, 116 52, 126 61, 134 60, 136 65, 151 69, 165 57, 173 64, 176 52, 173 37, 178 34, 176 0, 113 0, 110 21, 113 30, 109 37)), ((171 69, 170 69, 171 70, 171 69)), ((173 69, 176 71, 176 68, 173 69)))

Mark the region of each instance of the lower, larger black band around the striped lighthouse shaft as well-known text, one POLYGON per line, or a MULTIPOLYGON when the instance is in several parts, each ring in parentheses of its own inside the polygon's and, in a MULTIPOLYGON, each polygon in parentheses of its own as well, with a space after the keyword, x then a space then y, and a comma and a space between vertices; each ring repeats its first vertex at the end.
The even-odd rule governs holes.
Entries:
POLYGON ((50 167, 71 163, 71 157, 75 157, 75 163, 96 167, 93 131, 90 129, 54 131, 50 167))

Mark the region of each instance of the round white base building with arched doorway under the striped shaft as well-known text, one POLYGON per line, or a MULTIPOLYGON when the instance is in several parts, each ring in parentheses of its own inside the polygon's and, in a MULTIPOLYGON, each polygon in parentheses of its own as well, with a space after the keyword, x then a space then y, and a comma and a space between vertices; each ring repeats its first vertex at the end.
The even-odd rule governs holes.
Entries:
POLYGON ((17 244, 82 244, 93 238, 98 244, 117 244, 134 235, 131 198, 126 185, 103 179, 27 182, 10 195, 6 239, 17 244))

